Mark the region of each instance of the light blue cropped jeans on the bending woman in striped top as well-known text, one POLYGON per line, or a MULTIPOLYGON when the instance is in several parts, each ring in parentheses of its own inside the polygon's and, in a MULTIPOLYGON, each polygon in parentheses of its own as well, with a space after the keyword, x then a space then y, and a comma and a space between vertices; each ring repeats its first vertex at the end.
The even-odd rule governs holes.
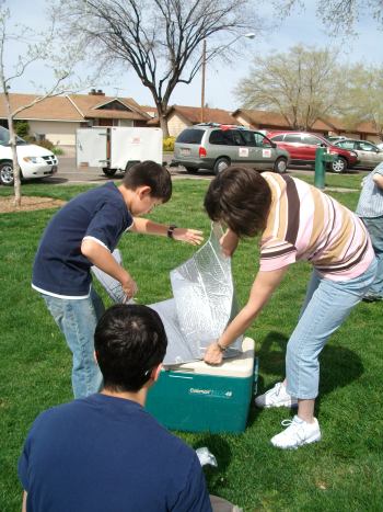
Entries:
POLYGON ((292 397, 316 398, 320 385, 318 355, 328 338, 361 301, 375 272, 375 260, 362 275, 349 281, 330 281, 313 270, 298 326, 287 345, 287 391, 292 397))

